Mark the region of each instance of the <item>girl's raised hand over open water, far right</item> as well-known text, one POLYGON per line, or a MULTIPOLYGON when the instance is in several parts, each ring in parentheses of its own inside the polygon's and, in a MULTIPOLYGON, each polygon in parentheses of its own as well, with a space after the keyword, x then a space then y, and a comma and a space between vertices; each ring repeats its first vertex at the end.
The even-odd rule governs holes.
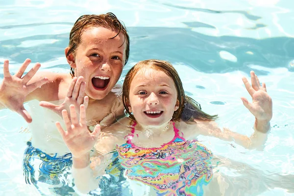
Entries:
POLYGON ((249 103, 246 98, 241 98, 243 104, 257 120, 269 122, 272 117, 272 101, 267 93, 266 84, 262 83, 261 86, 257 75, 253 71, 250 72, 250 75, 252 85, 249 84, 245 77, 242 80, 252 97, 252 103, 249 103))

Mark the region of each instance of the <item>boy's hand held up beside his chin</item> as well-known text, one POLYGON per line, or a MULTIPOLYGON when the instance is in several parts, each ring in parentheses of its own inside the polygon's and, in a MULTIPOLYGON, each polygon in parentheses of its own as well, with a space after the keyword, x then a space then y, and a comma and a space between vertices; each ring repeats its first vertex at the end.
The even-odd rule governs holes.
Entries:
POLYGON ((76 108, 77 115, 79 115, 80 113, 78 111, 79 106, 81 104, 84 104, 85 108, 87 109, 88 103, 89 103, 89 97, 85 96, 86 83, 83 80, 84 78, 82 76, 78 78, 77 77, 73 78, 69 86, 67 95, 63 103, 61 103, 60 105, 55 105, 48 101, 40 101, 40 106, 48 108, 61 116, 62 115, 61 111, 65 109, 69 113, 69 106, 73 104, 76 108))

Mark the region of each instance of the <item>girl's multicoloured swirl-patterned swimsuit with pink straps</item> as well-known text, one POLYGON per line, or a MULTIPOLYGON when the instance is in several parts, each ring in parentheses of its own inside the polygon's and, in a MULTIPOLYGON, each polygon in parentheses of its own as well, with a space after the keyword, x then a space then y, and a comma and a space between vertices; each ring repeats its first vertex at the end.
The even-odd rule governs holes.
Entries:
POLYGON ((117 146, 126 176, 153 187, 158 195, 203 195, 212 179, 212 153, 198 141, 186 141, 172 122, 174 137, 161 147, 144 148, 132 143, 133 123, 127 143, 117 146))

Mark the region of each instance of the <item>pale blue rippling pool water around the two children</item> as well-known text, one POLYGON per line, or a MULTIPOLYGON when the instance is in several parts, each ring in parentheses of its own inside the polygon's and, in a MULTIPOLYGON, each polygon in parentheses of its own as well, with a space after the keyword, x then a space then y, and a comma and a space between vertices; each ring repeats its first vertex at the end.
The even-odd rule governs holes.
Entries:
MULTIPOLYGON (((6 58, 11 72, 30 58, 41 62, 43 71, 69 72, 64 48, 75 20, 82 14, 111 11, 131 38, 124 73, 139 60, 169 60, 188 96, 207 113, 219 114, 221 126, 246 135, 252 133, 254 119, 240 100, 249 100, 241 77, 254 70, 273 99, 265 150, 246 150, 209 137, 199 140, 222 157, 219 170, 228 177, 223 186, 236 186, 230 189, 235 195, 292 195, 287 189, 294 187, 294 2, 12 0, 0 5, 1 69, 6 58)), ((0 110, 0 195, 39 195, 23 176, 30 139, 26 128, 17 114, 0 110)))

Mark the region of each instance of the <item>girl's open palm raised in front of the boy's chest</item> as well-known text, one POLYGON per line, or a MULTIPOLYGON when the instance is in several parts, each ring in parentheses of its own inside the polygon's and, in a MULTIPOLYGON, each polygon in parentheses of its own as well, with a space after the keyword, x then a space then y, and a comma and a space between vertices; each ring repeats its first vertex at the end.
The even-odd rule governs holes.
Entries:
POLYGON ((66 110, 62 110, 63 121, 67 131, 64 131, 60 123, 56 123, 56 127, 60 132, 66 146, 70 149, 73 157, 82 157, 94 147, 98 135, 100 133, 100 125, 97 124, 91 133, 86 125, 86 109, 85 105, 80 105, 79 120, 77 118, 74 105, 70 105, 70 118, 66 110))

